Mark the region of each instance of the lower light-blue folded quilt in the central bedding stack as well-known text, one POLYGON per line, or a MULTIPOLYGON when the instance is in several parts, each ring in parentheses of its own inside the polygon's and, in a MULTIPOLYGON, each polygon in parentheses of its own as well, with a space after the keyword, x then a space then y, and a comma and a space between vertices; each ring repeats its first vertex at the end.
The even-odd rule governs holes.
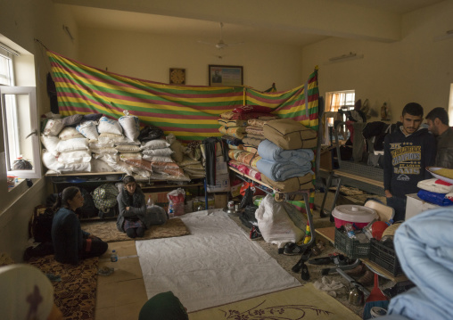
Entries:
POLYGON ((297 165, 291 161, 276 162, 261 159, 257 162, 259 172, 274 181, 284 181, 294 176, 305 176, 311 171, 311 163, 297 165))

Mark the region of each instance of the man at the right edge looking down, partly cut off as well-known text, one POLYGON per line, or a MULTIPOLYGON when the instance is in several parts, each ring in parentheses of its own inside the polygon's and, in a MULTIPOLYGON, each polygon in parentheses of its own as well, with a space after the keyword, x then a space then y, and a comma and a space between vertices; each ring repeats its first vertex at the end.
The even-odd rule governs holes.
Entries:
POLYGON ((449 127, 449 113, 443 108, 434 108, 426 115, 426 123, 437 139, 434 166, 453 168, 453 128, 449 127))

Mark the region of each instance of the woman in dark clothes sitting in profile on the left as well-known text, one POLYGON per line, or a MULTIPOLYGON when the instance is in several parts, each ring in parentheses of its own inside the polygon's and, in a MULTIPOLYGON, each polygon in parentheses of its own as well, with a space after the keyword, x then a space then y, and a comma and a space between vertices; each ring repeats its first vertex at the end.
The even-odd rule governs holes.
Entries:
POLYGON ((83 206, 83 196, 76 186, 70 186, 58 194, 52 223, 52 242, 55 260, 77 265, 80 259, 103 255, 107 242, 88 234, 80 227, 76 209, 83 206))

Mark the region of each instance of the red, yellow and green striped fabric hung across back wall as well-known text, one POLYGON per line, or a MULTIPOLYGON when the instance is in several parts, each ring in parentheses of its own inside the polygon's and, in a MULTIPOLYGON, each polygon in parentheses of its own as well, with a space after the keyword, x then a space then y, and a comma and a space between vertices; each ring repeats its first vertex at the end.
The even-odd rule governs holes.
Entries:
POLYGON ((103 113, 111 119, 123 111, 141 126, 161 127, 183 142, 218 132, 219 115, 242 105, 274 109, 282 118, 317 129, 317 70, 305 85, 284 92, 259 92, 248 86, 174 86, 100 70, 47 51, 62 116, 103 113))

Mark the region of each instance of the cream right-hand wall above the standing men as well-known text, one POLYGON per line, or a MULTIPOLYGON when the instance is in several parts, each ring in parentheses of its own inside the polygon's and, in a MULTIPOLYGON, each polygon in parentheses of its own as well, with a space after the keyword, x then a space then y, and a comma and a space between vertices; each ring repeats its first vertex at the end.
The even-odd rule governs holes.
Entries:
MULTIPOLYGON (((319 65, 319 90, 354 89, 356 99, 369 100, 380 109, 391 107, 392 122, 399 120, 406 103, 424 106, 424 113, 435 107, 449 107, 453 83, 453 38, 435 42, 433 37, 453 29, 453 2, 446 1, 403 17, 403 38, 394 43, 375 43, 332 38, 302 50, 302 74, 319 65), (345 53, 364 54, 363 59, 328 64, 329 58, 345 53)), ((378 120, 370 119, 370 120, 378 120)))

